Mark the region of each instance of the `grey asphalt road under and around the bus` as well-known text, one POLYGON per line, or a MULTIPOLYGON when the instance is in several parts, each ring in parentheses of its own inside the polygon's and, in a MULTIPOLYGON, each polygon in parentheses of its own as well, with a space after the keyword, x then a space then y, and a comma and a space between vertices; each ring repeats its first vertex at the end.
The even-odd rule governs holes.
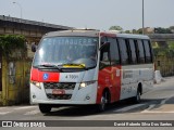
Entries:
MULTIPOLYGON (((83 126, 84 126, 83 129, 90 129, 90 130, 92 129, 124 130, 126 128, 128 130, 129 129, 174 130, 174 123, 173 127, 169 127, 166 126, 166 123, 164 127, 148 127, 148 123, 147 125, 145 123, 146 127, 117 127, 117 126, 114 127, 114 122, 115 125, 117 125, 119 123, 117 121, 122 120, 123 125, 127 120, 133 122, 137 120, 145 120, 145 122, 147 122, 149 120, 150 123, 154 123, 151 122, 151 120, 161 120, 162 122, 165 122, 164 120, 169 121, 174 120, 174 77, 167 77, 160 84, 154 84, 151 91, 141 96, 141 103, 139 104, 133 104, 130 101, 122 101, 111 104, 108 107, 108 109, 103 113, 98 113, 94 106, 60 107, 60 108, 53 108, 50 114, 41 114, 37 105, 5 106, 5 107, 0 107, 0 120, 20 120, 20 121, 46 120, 46 125, 50 125, 51 122, 47 120, 54 120, 55 122, 53 122, 53 125, 63 126, 63 127, 51 128, 57 130, 58 129, 80 130, 83 126), (76 127, 72 127, 73 125, 76 127), (111 127, 112 125, 113 127, 111 127)), ((140 123, 144 121, 140 121, 140 123)), ((1 129, 7 129, 7 128, 0 128, 0 130, 1 129)), ((20 129, 20 128, 11 128, 11 129, 20 129)))

